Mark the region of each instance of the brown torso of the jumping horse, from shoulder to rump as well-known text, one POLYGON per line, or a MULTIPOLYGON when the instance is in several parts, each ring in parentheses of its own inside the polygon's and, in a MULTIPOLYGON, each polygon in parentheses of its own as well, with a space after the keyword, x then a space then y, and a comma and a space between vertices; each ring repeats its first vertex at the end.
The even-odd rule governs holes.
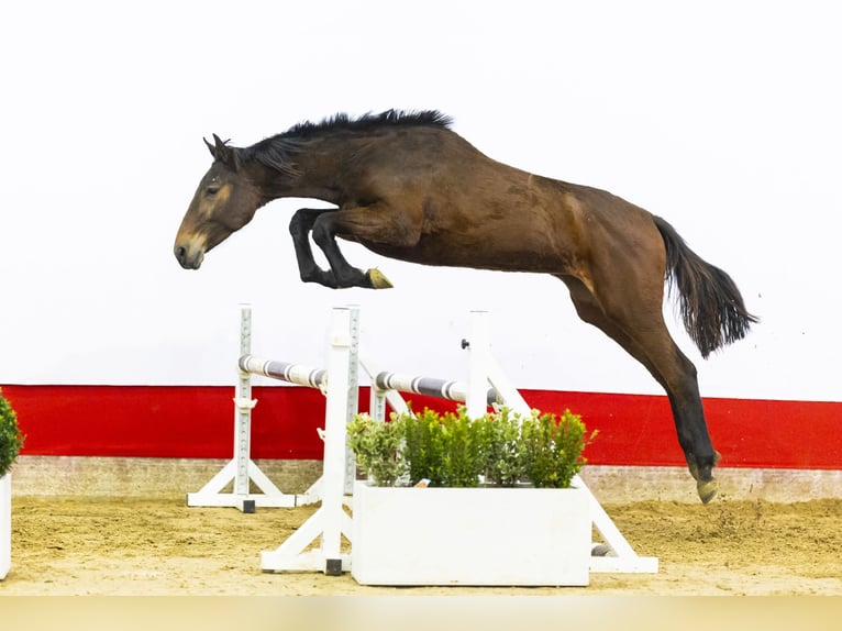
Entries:
POLYGON ((367 162, 361 184, 368 195, 405 213, 420 235, 411 247, 364 243, 386 256, 579 275, 595 257, 622 257, 644 242, 663 247, 647 211, 497 162, 450 130, 398 130, 357 157, 367 162))

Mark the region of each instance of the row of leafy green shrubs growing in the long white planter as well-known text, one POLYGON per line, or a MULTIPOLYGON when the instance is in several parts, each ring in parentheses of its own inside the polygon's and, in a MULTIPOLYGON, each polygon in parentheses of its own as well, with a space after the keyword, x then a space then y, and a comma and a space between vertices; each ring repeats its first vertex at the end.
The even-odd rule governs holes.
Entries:
POLYGON ((348 425, 357 463, 377 486, 391 486, 408 472, 411 485, 425 478, 435 487, 475 487, 484 475, 496 486, 566 488, 595 435, 586 436, 569 410, 561 419, 538 411, 523 419, 508 409, 470 419, 464 408, 443 414, 424 409, 392 414, 389 423, 358 414, 348 425))

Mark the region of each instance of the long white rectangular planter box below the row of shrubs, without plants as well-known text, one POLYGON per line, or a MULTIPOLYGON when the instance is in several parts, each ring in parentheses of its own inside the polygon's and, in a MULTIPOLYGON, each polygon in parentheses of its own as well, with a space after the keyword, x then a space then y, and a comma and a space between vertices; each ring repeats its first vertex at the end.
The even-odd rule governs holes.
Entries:
POLYGON ((351 574, 363 585, 588 585, 581 489, 354 485, 351 574))

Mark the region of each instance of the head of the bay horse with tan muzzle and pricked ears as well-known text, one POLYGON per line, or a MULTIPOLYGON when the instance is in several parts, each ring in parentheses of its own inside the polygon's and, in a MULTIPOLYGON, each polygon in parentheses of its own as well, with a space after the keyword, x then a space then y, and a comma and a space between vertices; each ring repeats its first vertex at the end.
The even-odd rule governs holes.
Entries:
POLYGON ((235 147, 217 134, 208 145, 213 164, 199 182, 176 235, 174 252, 185 269, 198 269, 204 253, 248 223, 265 202, 261 192, 243 173, 235 147))

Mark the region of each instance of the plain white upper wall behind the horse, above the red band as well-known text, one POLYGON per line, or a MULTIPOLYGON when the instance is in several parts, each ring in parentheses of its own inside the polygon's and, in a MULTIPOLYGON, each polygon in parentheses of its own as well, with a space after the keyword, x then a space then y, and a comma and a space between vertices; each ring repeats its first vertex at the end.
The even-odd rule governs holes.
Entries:
MULTIPOLYGON (((492 311, 520 387, 658 392, 550 277, 344 247, 389 291, 298 279, 277 201, 201 270, 171 255, 210 166, 337 111, 437 108, 494 158, 671 221, 763 318, 702 362, 708 396, 842 400, 839 9, 832 2, 13 2, 0 9, 0 383, 229 384, 237 303, 255 350, 318 364, 332 306, 367 353, 459 377, 492 311)), ((672 311, 672 306, 666 309, 672 311)))

